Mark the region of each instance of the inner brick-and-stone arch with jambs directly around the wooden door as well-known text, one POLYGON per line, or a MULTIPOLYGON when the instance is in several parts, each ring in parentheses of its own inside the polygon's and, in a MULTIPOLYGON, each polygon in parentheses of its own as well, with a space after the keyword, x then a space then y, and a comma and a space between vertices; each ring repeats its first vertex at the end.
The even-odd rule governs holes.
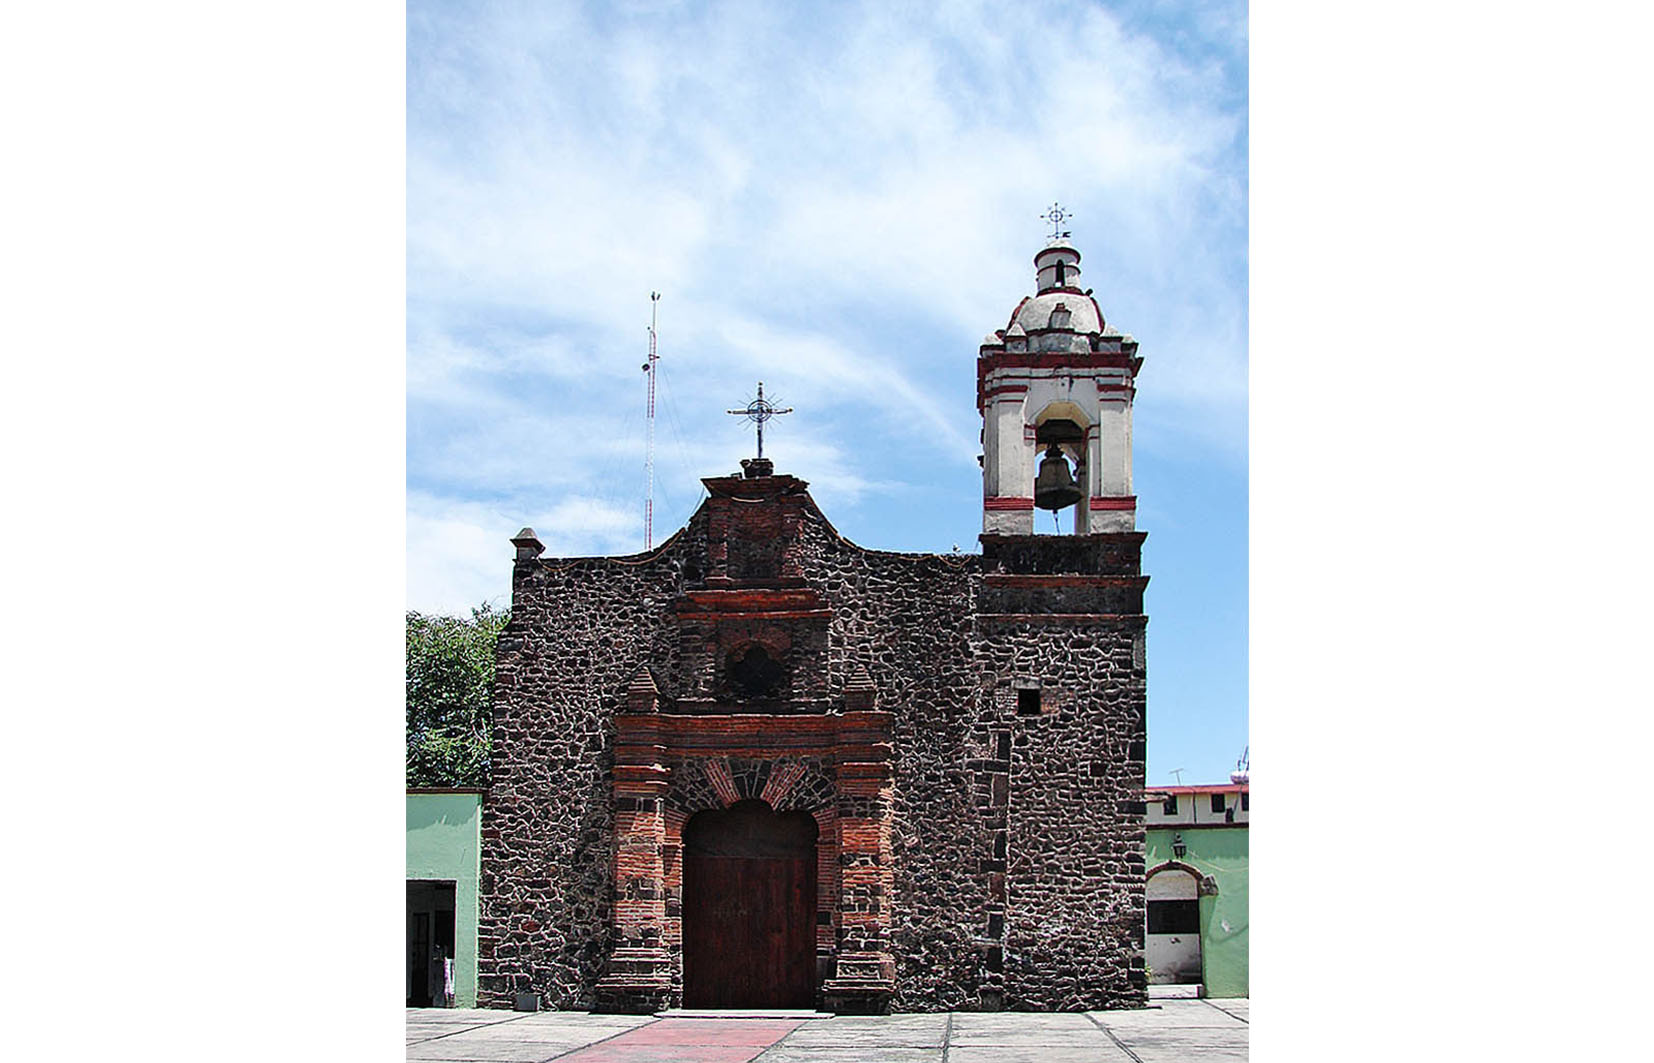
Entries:
POLYGON ((762 800, 776 812, 815 818, 815 985, 832 974, 839 922, 839 815, 835 789, 815 757, 695 757, 672 765, 665 800, 662 870, 667 901, 663 941, 672 957, 672 995, 683 999, 683 827, 696 812, 762 800))

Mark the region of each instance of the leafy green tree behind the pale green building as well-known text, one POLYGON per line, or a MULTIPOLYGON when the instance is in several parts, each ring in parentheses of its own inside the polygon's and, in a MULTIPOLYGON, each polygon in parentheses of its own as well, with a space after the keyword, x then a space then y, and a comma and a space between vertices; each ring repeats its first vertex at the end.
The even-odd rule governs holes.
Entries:
POLYGON ((495 641, 508 610, 471 617, 407 615, 407 785, 488 785, 495 641))

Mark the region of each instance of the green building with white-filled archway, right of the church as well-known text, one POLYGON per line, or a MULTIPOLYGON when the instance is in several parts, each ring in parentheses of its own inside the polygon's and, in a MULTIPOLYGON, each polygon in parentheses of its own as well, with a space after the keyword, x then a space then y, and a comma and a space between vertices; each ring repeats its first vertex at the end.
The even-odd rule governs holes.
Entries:
POLYGON ((1146 792, 1150 984, 1247 997, 1247 782, 1146 792))

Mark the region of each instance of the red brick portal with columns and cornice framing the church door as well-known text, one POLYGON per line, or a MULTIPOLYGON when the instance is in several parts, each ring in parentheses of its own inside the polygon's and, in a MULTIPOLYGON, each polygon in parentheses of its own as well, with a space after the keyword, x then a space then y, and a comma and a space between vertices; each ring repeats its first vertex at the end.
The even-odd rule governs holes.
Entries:
POLYGON ((662 713, 638 676, 615 716, 615 903, 597 1010, 681 1007, 683 825, 748 797, 810 812, 820 832, 817 1007, 890 1010, 893 716, 870 703, 872 691, 844 713, 662 713))

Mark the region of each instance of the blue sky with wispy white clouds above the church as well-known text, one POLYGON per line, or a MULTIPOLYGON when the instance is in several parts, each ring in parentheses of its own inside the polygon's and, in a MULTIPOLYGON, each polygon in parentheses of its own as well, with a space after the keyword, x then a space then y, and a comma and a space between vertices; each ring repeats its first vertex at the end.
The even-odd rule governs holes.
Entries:
MULTIPOLYGON (((409 607, 657 542, 766 433, 875 549, 976 549, 974 359, 1060 200, 1146 359, 1150 782, 1247 744, 1244 3, 409 7, 409 607), (1014 17, 1012 17, 1014 12, 1014 17)), ((1042 514, 1045 516, 1045 514, 1042 514)))

